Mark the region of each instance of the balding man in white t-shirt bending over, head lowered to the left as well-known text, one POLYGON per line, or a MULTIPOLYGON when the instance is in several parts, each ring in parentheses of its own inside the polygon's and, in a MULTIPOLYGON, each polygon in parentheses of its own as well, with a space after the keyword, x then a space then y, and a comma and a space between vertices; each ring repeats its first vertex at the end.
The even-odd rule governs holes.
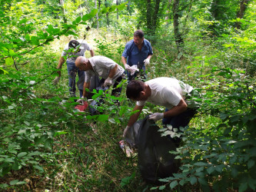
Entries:
POLYGON ((80 71, 85 71, 84 92, 78 101, 83 102, 87 96, 86 88, 90 87, 90 81, 93 75, 101 77, 101 81, 104 81, 103 85, 105 87, 113 84, 114 90, 111 94, 119 96, 121 93, 121 88, 116 88, 116 86, 123 79, 125 69, 110 58, 101 55, 91 58, 80 56, 75 60, 75 66, 80 71))

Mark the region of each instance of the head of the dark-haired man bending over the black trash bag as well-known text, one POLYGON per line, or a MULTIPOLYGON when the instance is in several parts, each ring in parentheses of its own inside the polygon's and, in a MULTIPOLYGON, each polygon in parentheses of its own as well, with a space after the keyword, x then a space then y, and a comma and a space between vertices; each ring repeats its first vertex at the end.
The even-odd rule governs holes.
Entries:
POLYGON ((146 94, 146 84, 138 80, 130 81, 126 88, 126 96, 135 101, 147 100, 148 94, 146 94))

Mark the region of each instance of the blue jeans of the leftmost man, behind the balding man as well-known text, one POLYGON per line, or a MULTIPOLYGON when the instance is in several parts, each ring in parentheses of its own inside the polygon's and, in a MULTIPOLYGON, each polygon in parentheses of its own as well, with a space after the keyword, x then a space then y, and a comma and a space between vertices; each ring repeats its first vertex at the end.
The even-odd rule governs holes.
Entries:
POLYGON ((71 97, 75 97, 75 77, 78 73, 78 90, 80 93, 80 98, 83 96, 83 86, 85 83, 85 71, 80 71, 78 68, 75 67, 75 63, 71 61, 67 61, 67 68, 68 68, 68 87, 71 97))

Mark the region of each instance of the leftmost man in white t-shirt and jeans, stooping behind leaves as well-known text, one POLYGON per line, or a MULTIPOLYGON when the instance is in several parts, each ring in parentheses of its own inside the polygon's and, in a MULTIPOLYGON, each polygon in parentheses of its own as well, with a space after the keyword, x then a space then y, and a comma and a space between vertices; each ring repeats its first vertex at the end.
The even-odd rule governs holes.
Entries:
MULTIPOLYGON (((67 60, 67 68, 68 68, 68 86, 71 97, 75 97, 75 77, 78 74, 78 89, 80 92, 80 97, 83 94, 83 85, 85 82, 85 71, 80 71, 75 67, 75 59, 78 56, 85 56, 85 51, 90 51, 91 57, 95 55, 95 52, 92 50, 90 45, 86 43, 84 40, 71 40, 65 45, 64 50, 62 51, 62 57, 58 61, 58 69, 62 69, 62 65, 65 63, 65 59, 67 60)), ((58 84, 59 79, 61 78, 62 73, 58 71, 58 77, 53 80, 54 84, 58 84)))

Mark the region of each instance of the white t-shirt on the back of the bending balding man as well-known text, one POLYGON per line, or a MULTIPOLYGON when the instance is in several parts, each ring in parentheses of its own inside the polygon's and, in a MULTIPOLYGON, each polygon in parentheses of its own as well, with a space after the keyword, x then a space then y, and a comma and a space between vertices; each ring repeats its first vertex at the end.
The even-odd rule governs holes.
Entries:
MULTIPOLYGON (((101 78, 108 78, 109 71, 112 68, 115 68, 115 65, 118 65, 115 61, 107 58, 105 56, 97 55, 92 58, 89 58, 92 70, 85 71, 85 82, 89 82, 91 80, 92 75, 97 75, 101 78)), ((117 71, 113 77, 113 81, 115 81, 118 77, 121 76, 125 72, 125 69, 118 65, 117 71)))

